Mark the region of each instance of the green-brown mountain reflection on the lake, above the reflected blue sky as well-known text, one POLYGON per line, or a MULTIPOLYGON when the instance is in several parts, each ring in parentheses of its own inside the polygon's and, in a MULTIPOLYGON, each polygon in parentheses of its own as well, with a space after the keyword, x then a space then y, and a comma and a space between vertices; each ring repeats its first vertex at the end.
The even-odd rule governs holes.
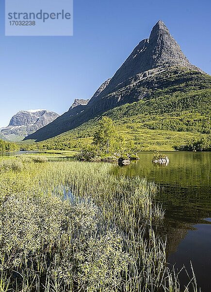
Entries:
POLYGON ((146 177, 158 184, 157 201, 165 217, 178 222, 197 223, 211 217, 211 152, 165 152, 170 163, 153 164, 153 152, 142 152, 140 160, 115 173, 146 177))

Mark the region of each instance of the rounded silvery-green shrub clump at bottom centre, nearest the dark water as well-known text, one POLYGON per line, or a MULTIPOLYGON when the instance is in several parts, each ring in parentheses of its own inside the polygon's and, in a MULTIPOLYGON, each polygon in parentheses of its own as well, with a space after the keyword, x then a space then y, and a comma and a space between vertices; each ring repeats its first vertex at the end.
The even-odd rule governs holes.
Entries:
POLYGON ((87 291, 115 291, 120 286, 119 275, 132 264, 131 257, 123 253, 122 238, 109 232, 99 240, 84 242, 84 247, 80 256, 88 262, 80 265, 79 287, 86 287, 88 283, 87 291))

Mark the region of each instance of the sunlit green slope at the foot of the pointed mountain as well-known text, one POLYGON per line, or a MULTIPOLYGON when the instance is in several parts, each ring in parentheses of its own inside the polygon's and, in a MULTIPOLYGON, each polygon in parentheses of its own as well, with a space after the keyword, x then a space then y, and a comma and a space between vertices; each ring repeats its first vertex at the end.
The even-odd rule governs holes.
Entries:
MULTIPOLYGON (((173 150, 174 146, 211 133, 211 76, 189 71, 163 74, 162 89, 103 114, 112 118, 119 133, 133 140, 137 148, 173 150)), ((78 141, 89 144, 101 116, 35 147, 75 149, 78 141)))

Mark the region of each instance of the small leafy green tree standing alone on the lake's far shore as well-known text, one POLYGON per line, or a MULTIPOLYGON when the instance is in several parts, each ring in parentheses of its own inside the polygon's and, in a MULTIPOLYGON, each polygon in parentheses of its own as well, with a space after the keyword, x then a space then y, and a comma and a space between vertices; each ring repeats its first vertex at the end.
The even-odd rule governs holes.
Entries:
POLYGON ((97 131, 94 133, 93 144, 107 154, 113 148, 116 137, 116 130, 114 121, 108 117, 103 116, 99 121, 97 131))

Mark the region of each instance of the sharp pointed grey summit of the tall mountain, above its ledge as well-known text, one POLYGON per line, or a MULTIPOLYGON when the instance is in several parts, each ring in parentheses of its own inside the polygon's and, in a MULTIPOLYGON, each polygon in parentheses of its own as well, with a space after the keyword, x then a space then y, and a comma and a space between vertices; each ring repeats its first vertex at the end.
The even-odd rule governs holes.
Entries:
POLYGON ((159 20, 152 28, 150 37, 140 41, 124 64, 114 74, 107 90, 113 90, 118 84, 136 74, 169 66, 180 66, 201 71, 189 62, 164 22, 159 20))

